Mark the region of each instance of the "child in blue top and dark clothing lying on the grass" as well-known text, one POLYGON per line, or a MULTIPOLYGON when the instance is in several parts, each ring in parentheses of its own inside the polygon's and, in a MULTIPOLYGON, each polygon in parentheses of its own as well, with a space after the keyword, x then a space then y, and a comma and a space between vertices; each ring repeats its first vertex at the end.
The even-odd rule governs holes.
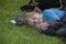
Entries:
POLYGON ((16 19, 14 22, 19 25, 36 26, 46 35, 57 35, 66 38, 66 24, 64 25, 64 21, 61 21, 63 16, 66 16, 64 13, 65 11, 47 9, 42 14, 41 10, 35 8, 34 11, 26 13, 23 18, 16 19))

